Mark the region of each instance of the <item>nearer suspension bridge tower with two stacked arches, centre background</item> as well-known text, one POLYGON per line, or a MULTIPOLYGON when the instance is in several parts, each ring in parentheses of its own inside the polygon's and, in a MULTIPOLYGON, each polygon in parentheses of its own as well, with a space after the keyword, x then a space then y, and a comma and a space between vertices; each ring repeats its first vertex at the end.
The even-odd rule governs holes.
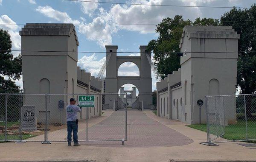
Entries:
MULTIPOLYGON (((146 55, 151 58, 151 52, 146 52, 147 46, 140 46, 140 56, 117 56, 117 46, 105 46, 107 58, 105 93, 118 93, 124 84, 134 84, 139 89, 139 100, 143 101, 144 109, 152 105, 151 65, 146 55), (125 62, 133 62, 140 71, 140 76, 118 76, 118 69, 125 62)), ((108 102, 108 101, 106 101, 108 102)), ((111 106, 111 102, 109 102, 111 106)))

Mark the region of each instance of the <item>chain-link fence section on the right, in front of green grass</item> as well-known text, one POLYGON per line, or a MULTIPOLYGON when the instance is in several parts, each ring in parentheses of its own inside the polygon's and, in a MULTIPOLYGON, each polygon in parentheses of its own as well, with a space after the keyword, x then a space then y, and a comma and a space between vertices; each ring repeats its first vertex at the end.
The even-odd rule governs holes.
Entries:
POLYGON ((207 144, 256 142, 256 94, 206 96, 207 144))

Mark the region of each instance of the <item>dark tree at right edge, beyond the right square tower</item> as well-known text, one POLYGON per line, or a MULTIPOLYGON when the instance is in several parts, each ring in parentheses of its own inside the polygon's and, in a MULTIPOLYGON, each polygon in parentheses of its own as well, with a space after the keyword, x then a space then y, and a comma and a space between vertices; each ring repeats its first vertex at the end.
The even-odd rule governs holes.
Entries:
MULTIPOLYGON (((249 9, 232 8, 221 16, 221 25, 232 26, 238 40, 237 85, 242 94, 256 93, 256 4, 249 9)), ((248 117, 252 117, 252 96, 246 96, 248 117)))

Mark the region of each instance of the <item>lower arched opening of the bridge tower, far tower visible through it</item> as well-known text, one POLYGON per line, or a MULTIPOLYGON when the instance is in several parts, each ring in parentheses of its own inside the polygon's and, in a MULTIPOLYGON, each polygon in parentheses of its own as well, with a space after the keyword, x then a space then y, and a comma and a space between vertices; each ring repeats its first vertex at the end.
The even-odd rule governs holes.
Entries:
POLYGON ((134 84, 124 84, 119 88, 119 97, 126 103, 127 108, 132 108, 134 102, 138 102, 139 89, 134 84), (122 95, 126 93, 127 95, 122 95))

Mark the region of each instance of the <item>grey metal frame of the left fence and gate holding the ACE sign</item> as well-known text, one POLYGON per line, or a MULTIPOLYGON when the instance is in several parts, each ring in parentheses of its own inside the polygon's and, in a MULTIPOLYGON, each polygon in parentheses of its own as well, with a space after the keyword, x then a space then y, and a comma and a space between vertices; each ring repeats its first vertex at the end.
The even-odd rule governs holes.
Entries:
MULTIPOLYGON (((4 142, 15 142, 15 143, 25 143, 25 142, 41 142, 42 144, 51 144, 51 142, 67 142, 67 140, 49 140, 49 131, 48 131, 48 97, 49 96, 53 96, 53 95, 64 95, 64 96, 68 96, 68 95, 126 95, 126 93, 124 94, 120 94, 120 93, 100 93, 100 94, 0 94, 0 95, 5 95, 5 101, 4 101, 4 107, 5 107, 5 131, 4 131, 4 140, 0 140, 0 141, 4 141, 4 142), (20 95, 20 124, 19 124, 19 140, 9 140, 7 139, 7 114, 8 114, 8 96, 9 95, 20 95), (22 135, 22 124, 21 124, 21 113, 22 113, 22 104, 21 104, 21 98, 22 96, 25 95, 40 95, 40 96, 45 96, 45 126, 44 126, 44 140, 23 140, 23 135, 22 135)), ((79 140, 79 142, 97 142, 97 141, 121 141, 122 145, 124 145, 124 141, 128 140, 128 133, 127 133, 127 105, 124 104, 124 111, 125 111, 125 138, 124 139, 113 139, 113 140, 88 140, 88 118, 89 118, 89 110, 88 108, 90 107, 86 107, 86 140, 79 140)))

